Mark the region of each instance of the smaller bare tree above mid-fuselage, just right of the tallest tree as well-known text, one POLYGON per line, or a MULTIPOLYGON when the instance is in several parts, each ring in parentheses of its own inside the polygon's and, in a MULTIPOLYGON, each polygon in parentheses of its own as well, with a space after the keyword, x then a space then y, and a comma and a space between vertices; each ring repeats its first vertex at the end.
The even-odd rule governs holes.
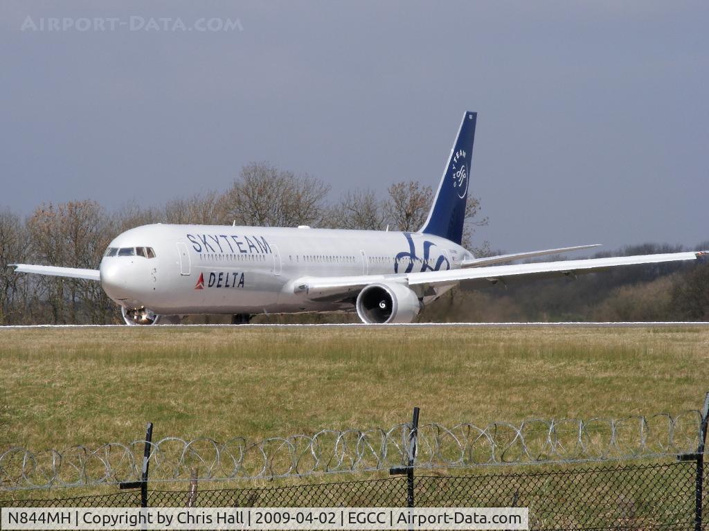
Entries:
POLYGON ((332 228, 384 230, 384 202, 372 190, 348 191, 331 206, 325 225, 332 228))

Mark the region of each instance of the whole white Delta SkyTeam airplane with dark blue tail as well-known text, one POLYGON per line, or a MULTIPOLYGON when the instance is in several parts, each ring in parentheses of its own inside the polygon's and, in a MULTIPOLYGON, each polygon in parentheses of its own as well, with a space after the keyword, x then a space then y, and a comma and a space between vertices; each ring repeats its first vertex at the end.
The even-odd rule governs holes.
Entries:
POLYGON ((108 245, 99 269, 13 264, 16 272, 101 282, 128 325, 186 315, 357 312, 368 324, 411 323, 455 286, 694 260, 707 252, 508 262, 597 247, 474 257, 462 247, 477 113, 464 113, 428 217, 418 232, 153 224, 108 245))

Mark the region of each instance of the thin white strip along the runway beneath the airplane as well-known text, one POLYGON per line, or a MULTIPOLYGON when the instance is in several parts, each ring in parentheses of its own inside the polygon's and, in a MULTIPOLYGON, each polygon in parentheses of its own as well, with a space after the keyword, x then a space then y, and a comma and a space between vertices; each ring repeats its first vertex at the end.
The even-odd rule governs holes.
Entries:
MULTIPOLYGON (((652 322, 625 322, 625 323, 400 323, 393 325, 365 325, 364 323, 313 323, 313 324, 250 324, 250 325, 152 325, 152 328, 613 328, 613 327, 655 327, 655 326, 708 326, 709 321, 652 321, 652 322)), ((0 330, 11 328, 150 328, 150 326, 128 325, 5 325, 0 326, 0 330)))

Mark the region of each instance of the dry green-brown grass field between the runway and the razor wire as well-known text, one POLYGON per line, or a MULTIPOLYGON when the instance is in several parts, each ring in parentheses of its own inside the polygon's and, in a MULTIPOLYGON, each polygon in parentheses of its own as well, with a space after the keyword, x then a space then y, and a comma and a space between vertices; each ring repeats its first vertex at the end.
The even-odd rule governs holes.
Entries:
POLYGON ((0 444, 674 413, 708 367, 708 328, 0 329, 0 444))

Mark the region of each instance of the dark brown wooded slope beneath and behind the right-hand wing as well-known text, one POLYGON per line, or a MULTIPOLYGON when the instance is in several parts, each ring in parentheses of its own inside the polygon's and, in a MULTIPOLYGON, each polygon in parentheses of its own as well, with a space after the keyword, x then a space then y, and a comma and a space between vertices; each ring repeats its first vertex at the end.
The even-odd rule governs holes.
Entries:
MULTIPOLYGON (((707 250, 645 244, 593 257, 707 250)), ((549 259, 559 259, 550 257, 549 259)), ((709 320, 709 260, 618 267, 562 278, 508 282, 448 294, 421 315, 425 320, 467 322, 709 320)))

